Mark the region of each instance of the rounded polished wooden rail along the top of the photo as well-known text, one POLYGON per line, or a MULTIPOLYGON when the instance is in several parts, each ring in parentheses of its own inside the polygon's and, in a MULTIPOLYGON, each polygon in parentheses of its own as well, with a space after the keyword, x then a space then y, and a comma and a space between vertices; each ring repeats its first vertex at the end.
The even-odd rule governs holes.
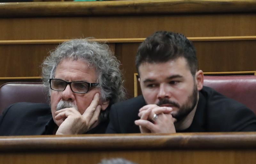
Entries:
POLYGON ((254 12, 254 0, 136 0, 105 2, 2 3, 1 17, 147 15, 254 12))

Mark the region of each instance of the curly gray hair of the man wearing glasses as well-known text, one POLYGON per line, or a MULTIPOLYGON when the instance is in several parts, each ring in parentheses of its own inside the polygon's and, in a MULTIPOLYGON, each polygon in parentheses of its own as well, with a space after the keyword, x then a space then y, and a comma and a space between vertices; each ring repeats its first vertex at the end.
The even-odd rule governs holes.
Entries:
MULTIPOLYGON (((49 79, 54 78, 58 64, 67 58, 82 59, 95 67, 103 101, 109 100, 109 104, 113 104, 124 100, 126 92, 122 73, 119 70, 120 62, 107 44, 89 41, 88 38, 63 42, 46 57, 42 64, 42 77, 44 86, 49 88, 49 96, 51 96, 49 79)), ((108 119, 108 112, 108 110, 101 111, 100 120, 108 119)))

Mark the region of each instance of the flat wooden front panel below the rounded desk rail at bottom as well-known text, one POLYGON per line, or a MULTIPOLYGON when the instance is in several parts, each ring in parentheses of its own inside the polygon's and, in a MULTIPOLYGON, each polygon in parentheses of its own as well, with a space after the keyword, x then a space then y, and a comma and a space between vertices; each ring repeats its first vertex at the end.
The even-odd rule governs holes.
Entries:
POLYGON ((4 164, 98 164, 103 159, 124 158, 138 164, 254 164, 255 150, 133 150, 1 153, 4 164), (43 159, 43 160, 42 160, 43 159))

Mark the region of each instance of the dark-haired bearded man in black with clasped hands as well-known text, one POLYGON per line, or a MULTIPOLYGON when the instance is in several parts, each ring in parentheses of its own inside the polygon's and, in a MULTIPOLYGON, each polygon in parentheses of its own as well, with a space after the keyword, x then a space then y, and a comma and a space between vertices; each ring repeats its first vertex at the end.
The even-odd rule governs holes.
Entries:
POLYGON ((256 131, 252 110, 203 86, 195 47, 184 35, 149 36, 136 66, 143 96, 111 107, 107 133, 256 131))

